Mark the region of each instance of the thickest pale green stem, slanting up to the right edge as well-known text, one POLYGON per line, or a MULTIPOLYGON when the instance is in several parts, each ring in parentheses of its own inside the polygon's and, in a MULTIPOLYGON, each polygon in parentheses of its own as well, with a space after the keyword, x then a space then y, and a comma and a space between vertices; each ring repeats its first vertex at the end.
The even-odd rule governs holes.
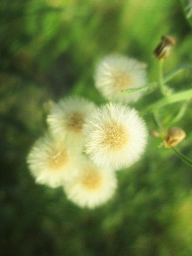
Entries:
POLYGON ((167 97, 164 97, 163 99, 160 99, 159 101, 156 101, 155 103, 151 104, 144 110, 140 112, 141 115, 146 114, 147 112, 154 112, 158 110, 159 108, 163 108, 167 105, 170 105, 172 103, 176 103, 179 101, 187 101, 192 98, 192 89, 185 90, 183 92, 177 92, 175 94, 171 94, 167 97))

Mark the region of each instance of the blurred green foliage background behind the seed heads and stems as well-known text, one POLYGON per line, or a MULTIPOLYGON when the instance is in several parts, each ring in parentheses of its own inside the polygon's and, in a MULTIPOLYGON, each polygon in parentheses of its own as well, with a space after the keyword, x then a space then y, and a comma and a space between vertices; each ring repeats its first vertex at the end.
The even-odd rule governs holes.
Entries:
MULTIPOLYGON (((95 210, 80 209, 62 188, 34 183, 26 156, 46 130, 44 103, 82 95, 97 104, 96 63, 125 54, 147 63, 162 34, 176 38, 164 72, 192 63, 192 28, 176 0, 0 1, 0 255, 1 256, 190 256, 192 169, 172 150, 149 138, 141 161, 119 171, 115 197, 95 210)), ((186 9, 185 9, 186 10, 186 9)), ((186 70, 169 85, 192 85, 186 70)), ((136 103, 142 110, 154 92, 136 103)), ((171 118, 180 103, 162 109, 171 118)), ((176 124, 187 133, 179 145, 192 158, 192 112, 176 124)), ((150 115, 144 116, 149 130, 150 115)))

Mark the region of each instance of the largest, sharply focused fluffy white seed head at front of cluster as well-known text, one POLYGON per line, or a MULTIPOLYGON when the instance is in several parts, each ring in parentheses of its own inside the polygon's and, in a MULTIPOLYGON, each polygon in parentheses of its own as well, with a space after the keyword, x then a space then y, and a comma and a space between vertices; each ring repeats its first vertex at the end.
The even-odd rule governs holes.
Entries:
POLYGON ((83 128, 85 152, 100 166, 115 170, 136 162, 147 144, 147 128, 138 112, 121 103, 95 110, 83 128))

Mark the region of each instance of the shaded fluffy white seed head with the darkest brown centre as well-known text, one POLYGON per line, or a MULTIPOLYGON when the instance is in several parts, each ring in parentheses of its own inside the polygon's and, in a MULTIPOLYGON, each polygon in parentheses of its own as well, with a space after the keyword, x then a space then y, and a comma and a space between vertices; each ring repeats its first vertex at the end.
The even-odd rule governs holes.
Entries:
POLYGON ((51 134, 71 146, 83 146, 82 127, 94 103, 80 97, 62 99, 51 109, 47 123, 51 134))

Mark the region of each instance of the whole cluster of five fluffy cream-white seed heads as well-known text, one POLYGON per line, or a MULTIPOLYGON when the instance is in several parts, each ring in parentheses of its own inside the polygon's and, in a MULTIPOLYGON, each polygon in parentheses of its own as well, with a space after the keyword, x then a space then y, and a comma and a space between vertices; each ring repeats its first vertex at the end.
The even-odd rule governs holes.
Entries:
MULTIPOLYGON (((96 87, 124 103, 122 88, 130 82, 132 87, 145 83, 140 65, 123 56, 107 57, 96 69, 96 87)), ((47 116, 47 133, 27 157, 36 182, 63 186, 67 198, 80 207, 94 208, 112 198, 116 171, 134 164, 147 144, 145 122, 123 103, 96 106, 83 97, 55 103, 47 116)))

